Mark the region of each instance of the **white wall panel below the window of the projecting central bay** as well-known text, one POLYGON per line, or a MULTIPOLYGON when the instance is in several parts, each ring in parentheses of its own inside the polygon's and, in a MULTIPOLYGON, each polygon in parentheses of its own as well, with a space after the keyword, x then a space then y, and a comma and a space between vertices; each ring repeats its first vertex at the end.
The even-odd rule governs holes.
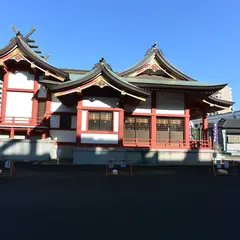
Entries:
POLYGON ((92 144, 118 144, 118 134, 82 133, 81 142, 92 144))

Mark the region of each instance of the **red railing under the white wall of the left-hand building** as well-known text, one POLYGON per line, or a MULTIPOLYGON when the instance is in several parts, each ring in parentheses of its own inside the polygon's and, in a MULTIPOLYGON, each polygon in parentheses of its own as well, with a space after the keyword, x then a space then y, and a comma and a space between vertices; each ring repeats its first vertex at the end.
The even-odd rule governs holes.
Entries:
POLYGON ((42 125, 43 119, 29 117, 0 117, 1 125, 42 125))

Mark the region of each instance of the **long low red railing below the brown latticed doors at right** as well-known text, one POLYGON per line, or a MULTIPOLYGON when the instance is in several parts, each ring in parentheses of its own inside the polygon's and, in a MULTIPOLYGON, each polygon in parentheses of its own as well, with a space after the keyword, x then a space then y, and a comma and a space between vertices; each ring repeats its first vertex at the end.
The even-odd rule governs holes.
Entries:
POLYGON ((157 140, 144 138, 124 138, 123 146, 125 147, 156 147, 156 148, 191 148, 191 149, 211 149, 211 140, 157 140))

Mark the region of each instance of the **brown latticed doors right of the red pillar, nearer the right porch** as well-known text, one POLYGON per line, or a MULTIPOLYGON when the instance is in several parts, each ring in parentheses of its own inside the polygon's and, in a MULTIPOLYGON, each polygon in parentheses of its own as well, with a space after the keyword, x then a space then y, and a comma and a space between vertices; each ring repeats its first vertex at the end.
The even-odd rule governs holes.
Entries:
POLYGON ((180 141, 184 138, 184 118, 157 118, 157 141, 180 141))

